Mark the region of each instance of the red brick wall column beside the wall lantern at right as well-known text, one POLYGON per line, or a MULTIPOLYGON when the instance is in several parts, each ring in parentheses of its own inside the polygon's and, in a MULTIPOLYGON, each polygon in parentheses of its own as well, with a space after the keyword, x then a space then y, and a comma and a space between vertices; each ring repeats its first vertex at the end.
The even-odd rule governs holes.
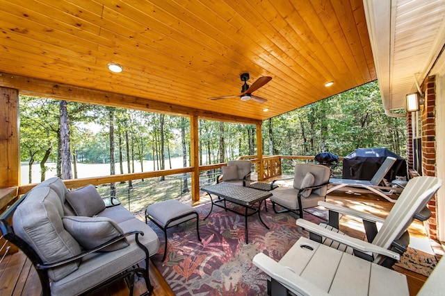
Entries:
MULTIPOLYGON (((422 109, 422 173, 436 175, 436 124, 435 124, 435 76, 428 77, 425 85, 425 105, 422 109)), ((427 221, 430 238, 437 239, 436 198, 428 203, 432 216, 427 221)))

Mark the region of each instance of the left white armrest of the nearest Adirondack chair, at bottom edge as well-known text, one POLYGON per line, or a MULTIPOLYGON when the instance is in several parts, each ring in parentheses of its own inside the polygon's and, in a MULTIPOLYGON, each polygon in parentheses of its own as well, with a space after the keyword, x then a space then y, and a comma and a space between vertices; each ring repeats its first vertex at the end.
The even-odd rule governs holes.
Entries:
POLYGON ((253 263, 259 269, 266 272, 269 277, 275 279, 275 281, 278 281, 285 288, 297 295, 328 295, 325 291, 321 290, 321 288, 318 288, 318 286, 303 279, 289 268, 286 268, 286 266, 271 259, 266 254, 256 254, 253 257, 253 263))

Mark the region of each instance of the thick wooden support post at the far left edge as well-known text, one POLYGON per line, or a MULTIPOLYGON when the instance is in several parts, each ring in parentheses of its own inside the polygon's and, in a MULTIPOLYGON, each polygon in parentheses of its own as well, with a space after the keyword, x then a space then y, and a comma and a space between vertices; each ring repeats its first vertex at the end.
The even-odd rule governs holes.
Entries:
POLYGON ((20 184, 19 91, 0 87, 0 188, 20 184))

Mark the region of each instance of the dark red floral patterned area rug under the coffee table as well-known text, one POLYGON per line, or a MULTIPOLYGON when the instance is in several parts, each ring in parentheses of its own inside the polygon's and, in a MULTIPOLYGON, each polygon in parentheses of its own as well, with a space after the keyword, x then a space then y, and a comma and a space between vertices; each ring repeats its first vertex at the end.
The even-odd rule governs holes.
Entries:
MULTIPOLYGON (((231 204, 227 202, 227 206, 231 204)), ((200 214, 200 236, 197 241, 195 220, 171 227, 168 232, 168 249, 162 262, 164 235, 149 221, 150 227, 161 241, 159 253, 152 262, 178 295, 267 295, 266 274, 252 263, 254 255, 264 252, 275 260, 282 258, 301 236, 308 236, 296 225, 295 214, 275 214, 268 202, 261 218, 270 227, 259 222, 258 215, 248 217, 248 238, 245 243, 245 220, 241 215, 213 207, 197 207, 200 214)), ((243 207, 235 207, 243 211, 243 207)), ((314 223, 322 220, 305 213, 305 219, 314 223)))

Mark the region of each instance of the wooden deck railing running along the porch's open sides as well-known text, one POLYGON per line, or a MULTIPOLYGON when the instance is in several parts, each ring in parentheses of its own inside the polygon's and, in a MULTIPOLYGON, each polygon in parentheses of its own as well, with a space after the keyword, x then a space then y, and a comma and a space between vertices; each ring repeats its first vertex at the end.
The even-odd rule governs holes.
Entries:
MULTIPOLYGON (((240 159, 250 159, 252 170, 260 171, 260 160, 256 155, 243 156, 240 159)), ((312 156, 273 155, 264 156, 263 177, 259 180, 268 180, 280 175, 293 174, 296 162, 314 162, 312 156)), ((225 164, 211 164, 200 166, 200 187, 216 181, 221 173, 221 166, 225 164)), ((109 175, 104 177, 88 177, 83 179, 64 180, 68 189, 76 189, 88 184, 97 186, 102 197, 115 197, 124 207, 133 213, 143 211, 149 204, 175 198, 183 202, 191 201, 191 173, 193 168, 177 168, 164 171, 145 173, 131 173, 124 175, 109 175), (115 189, 111 186, 114 184, 115 189), (188 190, 187 190, 188 189, 188 190)), ((10 204, 37 184, 25 184, 19 187, 0 189, 0 213, 3 213, 10 204)), ((0 243, 2 243, 0 239, 0 243)), ((1 256, 1 251, 0 251, 1 256)))

